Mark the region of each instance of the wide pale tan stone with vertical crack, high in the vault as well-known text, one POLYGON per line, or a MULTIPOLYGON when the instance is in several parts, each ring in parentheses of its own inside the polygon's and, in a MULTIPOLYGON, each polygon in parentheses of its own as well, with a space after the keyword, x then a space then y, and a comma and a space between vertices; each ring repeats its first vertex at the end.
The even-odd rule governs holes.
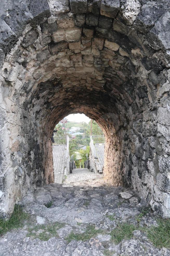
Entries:
POLYGON ((53 40, 54 42, 60 42, 62 40, 73 42, 76 40, 80 40, 81 30, 81 28, 59 29, 58 31, 53 33, 53 40))

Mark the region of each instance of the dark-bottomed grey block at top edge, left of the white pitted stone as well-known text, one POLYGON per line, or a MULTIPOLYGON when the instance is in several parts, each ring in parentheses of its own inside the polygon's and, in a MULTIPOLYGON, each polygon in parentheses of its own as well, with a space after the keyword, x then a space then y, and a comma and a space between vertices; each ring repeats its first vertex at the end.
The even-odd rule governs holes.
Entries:
POLYGON ((120 7, 120 0, 102 0, 100 14, 106 17, 115 18, 120 7))

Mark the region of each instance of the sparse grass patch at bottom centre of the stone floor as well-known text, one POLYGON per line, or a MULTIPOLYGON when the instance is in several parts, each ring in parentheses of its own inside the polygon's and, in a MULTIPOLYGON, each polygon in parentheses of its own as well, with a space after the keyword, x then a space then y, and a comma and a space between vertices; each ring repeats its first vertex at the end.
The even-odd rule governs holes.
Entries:
POLYGON ((95 229, 95 225, 88 225, 86 231, 83 234, 75 234, 73 231, 66 237, 67 242, 71 242, 72 240, 76 241, 87 241, 91 237, 95 237, 98 234, 104 233, 102 229, 95 229))

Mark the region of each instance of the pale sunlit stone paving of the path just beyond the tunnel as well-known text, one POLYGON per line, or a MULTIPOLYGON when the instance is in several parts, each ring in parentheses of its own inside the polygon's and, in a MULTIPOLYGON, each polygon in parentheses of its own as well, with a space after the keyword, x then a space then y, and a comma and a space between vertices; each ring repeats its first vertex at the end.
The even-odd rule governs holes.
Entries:
POLYGON ((90 172, 89 169, 81 168, 81 169, 73 169, 73 173, 70 173, 66 180, 64 181, 64 184, 76 184, 80 185, 81 183, 88 183, 90 185, 91 181, 94 181, 94 179, 100 179, 103 177, 103 174, 90 172))

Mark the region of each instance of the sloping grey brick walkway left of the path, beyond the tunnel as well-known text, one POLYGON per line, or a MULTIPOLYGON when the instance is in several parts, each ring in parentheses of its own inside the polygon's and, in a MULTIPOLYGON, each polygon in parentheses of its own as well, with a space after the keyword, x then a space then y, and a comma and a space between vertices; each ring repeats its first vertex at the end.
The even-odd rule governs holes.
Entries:
POLYGON ((66 145, 53 146, 54 182, 62 183, 65 166, 66 145))

